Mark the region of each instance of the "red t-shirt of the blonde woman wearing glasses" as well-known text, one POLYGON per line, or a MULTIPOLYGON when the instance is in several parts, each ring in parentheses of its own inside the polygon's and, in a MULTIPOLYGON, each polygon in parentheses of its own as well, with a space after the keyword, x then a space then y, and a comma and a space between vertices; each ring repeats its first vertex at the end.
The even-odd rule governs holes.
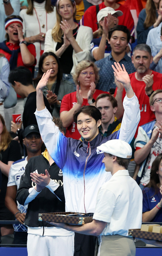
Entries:
MULTIPOLYGON (((101 91, 101 90, 97 90, 95 91, 95 93, 93 94, 93 98, 96 100, 96 98, 98 97, 99 94, 101 93, 108 93, 110 94, 109 92, 107 91, 101 91)), ((75 92, 71 92, 69 94, 66 94, 64 95, 62 101, 61 101, 61 108, 60 108, 60 113, 62 111, 69 111, 75 104, 77 103, 77 99, 76 99, 76 91, 75 92)), ((88 101, 87 99, 83 99, 83 104, 82 106, 85 105, 85 106, 88 106, 88 101)), ((73 138, 73 139, 76 139, 76 140, 79 140, 81 135, 80 133, 78 132, 78 129, 77 129, 77 125, 75 122, 73 122, 68 128, 66 128, 66 134, 65 136, 67 138, 73 138)))

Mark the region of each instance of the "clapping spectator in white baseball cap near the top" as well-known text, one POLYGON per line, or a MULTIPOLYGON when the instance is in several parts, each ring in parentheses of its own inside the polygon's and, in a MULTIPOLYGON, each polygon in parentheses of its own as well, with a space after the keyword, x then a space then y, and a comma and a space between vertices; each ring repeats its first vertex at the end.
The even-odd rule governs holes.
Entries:
POLYGON ((117 17, 122 16, 122 11, 115 11, 111 7, 105 7, 101 9, 97 14, 98 22, 98 36, 91 41, 91 53, 92 57, 96 61, 103 59, 110 55, 111 46, 108 43, 108 33, 111 28, 118 25, 119 20, 117 17), (102 36, 101 36, 102 35, 102 36))

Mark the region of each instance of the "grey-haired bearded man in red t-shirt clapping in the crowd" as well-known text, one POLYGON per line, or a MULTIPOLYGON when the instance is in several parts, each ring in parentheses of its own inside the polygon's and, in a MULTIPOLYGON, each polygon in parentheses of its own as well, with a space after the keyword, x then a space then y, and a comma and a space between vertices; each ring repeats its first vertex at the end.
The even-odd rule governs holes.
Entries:
MULTIPOLYGON (((132 63, 134 64, 136 72, 129 74, 129 77, 133 91, 140 104, 141 119, 138 127, 155 119, 155 115, 150 109, 149 97, 155 90, 162 89, 162 74, 150 69, 152 61, 153 57, 148 45, 139 44, 134 47, 132 63)), ((120 118, 124 113, 122 101, 126 92, 120 82, 116 81, 116 86, 114 96, 118 101, 118 110, 115 115, 117 118, 120 118)), ((137 132, 138 129, 136 130, 135 138, 137 132)))

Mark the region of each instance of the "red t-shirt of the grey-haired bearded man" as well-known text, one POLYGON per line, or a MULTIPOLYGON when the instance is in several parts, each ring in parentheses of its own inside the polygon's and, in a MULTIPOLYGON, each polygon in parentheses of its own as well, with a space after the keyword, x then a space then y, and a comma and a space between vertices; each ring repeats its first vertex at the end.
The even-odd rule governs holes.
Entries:
MULTIPOLYGON (((155 71, 153 71, 152 74, 154 74, 154 77, 153 77, 154 83, 152 86, 153 90, 155 91, 157 89, 162 89, 162 74, 155 72, 155 71)), ((139 127, 141 125, 144 125, 148 122, 153 121, 155 119, 155 115, 150 109, 149 97, 145 93, 145 87, 146 87, 145 82, 138 81, 135 78, 135 72, 132 74, 129 74, 129 77, 131 80, 131 86, 133 88, 135 95, 138 98, 139 105, 140 105, 141 119, 138 124, 138 127, 139 127)), ((117 91, 117 88, 115 90, 114 97, 116 96, 116 91, 117 91)), ((125 94, 126 94, 126 92, 124 89, 123 94, 122 94, 122 100, 124 99, 125 94)), ((138 127, 137 127, 136 133, 134 135, 135 138, 137 137, 138 127)))

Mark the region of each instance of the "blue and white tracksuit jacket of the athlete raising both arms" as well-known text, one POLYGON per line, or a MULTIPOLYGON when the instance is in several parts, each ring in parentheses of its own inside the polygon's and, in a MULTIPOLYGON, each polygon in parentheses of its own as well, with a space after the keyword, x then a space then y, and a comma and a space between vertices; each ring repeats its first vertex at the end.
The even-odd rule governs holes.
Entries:
POLYGON ((66 138, 52 122, 45 108, 35 112, 42 139, 53 160, 63 171, 65 209, 73 212, 94 212, 99 188, 111 178, 102 163, 103 152, 97 146, 111 139, 130 143, 140 120, 137 97, 125 96, 121 129, 104 138, 100 133, 90 141, 66 138))

